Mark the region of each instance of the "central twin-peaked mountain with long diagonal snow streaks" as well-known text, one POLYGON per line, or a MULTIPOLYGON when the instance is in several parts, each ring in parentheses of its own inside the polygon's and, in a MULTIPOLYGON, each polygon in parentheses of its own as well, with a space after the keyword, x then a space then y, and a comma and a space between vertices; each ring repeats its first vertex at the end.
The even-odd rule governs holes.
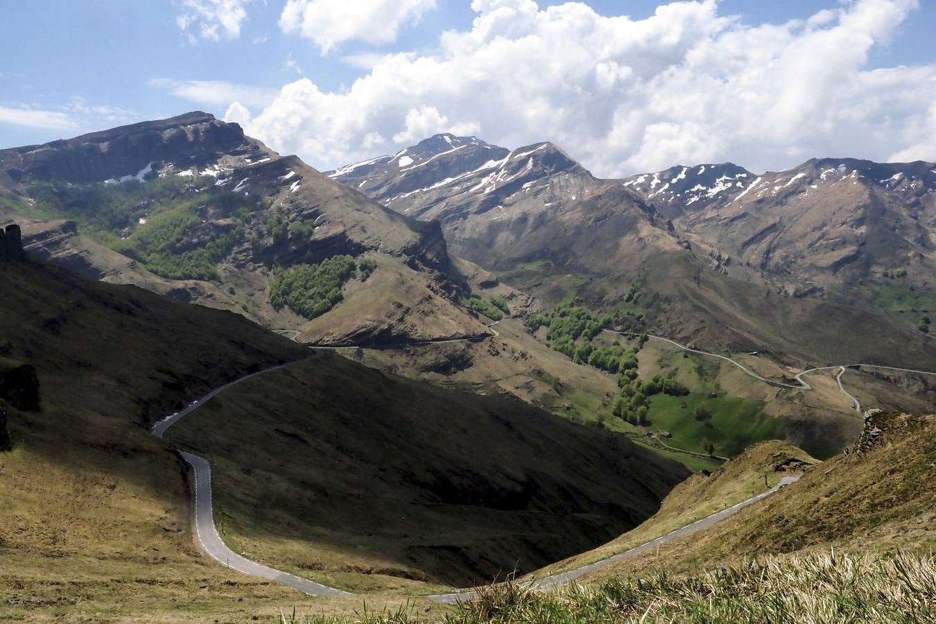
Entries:
POLYGON ((453 253, 485 268, 574 264, 576 247, 618 247, 622 233, 641 247, 675 249, 678 242, 655 210, 621 184, 596 179, 552 143, 510 151, 436 135, 327 175, 402 214, 439 221, 453 253), (594 223, 605 225, 592 229, 594 223))

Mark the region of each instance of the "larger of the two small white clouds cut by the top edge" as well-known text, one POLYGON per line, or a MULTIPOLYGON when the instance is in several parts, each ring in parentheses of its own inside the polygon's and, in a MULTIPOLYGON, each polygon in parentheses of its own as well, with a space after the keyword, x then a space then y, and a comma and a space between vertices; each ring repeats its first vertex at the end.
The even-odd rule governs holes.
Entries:
POLYGON ((324 54, 352 39, 391 43, 402 25, 434 7, 435 0, 288 0, 280 28, 312 39, 324 54))

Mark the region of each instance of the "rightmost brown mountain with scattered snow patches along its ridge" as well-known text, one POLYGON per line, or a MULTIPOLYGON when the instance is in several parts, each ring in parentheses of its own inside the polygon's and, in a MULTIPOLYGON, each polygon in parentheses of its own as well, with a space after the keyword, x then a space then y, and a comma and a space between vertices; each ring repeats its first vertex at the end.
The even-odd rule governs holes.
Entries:
POLYGON ((759 176, 701 165, 623 183, 681 230, 800 293, 895 285, 892 273, 933 292, 936 164, 824 158, 759 176))

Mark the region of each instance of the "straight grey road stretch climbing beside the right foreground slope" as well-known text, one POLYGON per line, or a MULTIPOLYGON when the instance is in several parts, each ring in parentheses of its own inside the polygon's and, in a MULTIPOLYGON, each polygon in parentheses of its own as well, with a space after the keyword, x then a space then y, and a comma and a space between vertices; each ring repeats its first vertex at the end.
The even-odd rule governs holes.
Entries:
MULTIPOLYGON (((724 518, 726 517, 737 514, 741 509, 747 507, 748 505, 753 504, 754 502, 760 501, 761 499, 767 498, 768 496, 770 496, 771 494, 779 490, 781 487, 788 486, 791 483, 797 482, 798 480, 799 480, 798 476, 782 477, 782 479, 780 480, 780 483, 778 483, 776 486, 773 486, 770 489, 764 492, 761 492, 757 496, 753 496, 747 501, 741 501, 736 505, 728 507, 727 509, 723 509, 722 511, 716 512, 712 515, 709 515, 708 517, 704 517, 701 520, 696 520, 694 523, 690 525, 686 525, 685 527, 682 527, 681 529, 671 531, 667 533, 666 535, 662 535, 656 538, 655 540, 651 540, 651 542, 647 542, 646 544, 640 544, 638 546, 631 548, 630 550, 625 550, 624 552, 614 555, 613 557, 608 557, 607 559, 595 561, 594 563, 590 563, 580 568, 576 568, 575 570, 569 570, 568 572, 563 572, 563 573, 550 574, 548 576, 544 576, 543 578, 539 578, 534 581, 529 581, 528 583, 526 583, 526 587, 534 588, 534 589, 548 589, 548 588, 555 588, 555 587, 562 586, 562 585, 568 585, 569 583, 576 581, 579 577, 588 573, 592 573, 596 570, 600 570, 601 568, 604 568, 607 565, 610 565, 611 563, 616 563, 617 561, 623 561, 624 559, 630 559, 631 557, 635 557, 636 555, 645 553, 648 550, 652 550, 653 548, 656 548, 657 546, 666 544, 667 542, 671 542, 679 537, 692 535, 693 533, 696 533, 700 530, 708 529, 710 526, 712 526, 716 522, 720 522, 724 520, 724 518)), ((475 600, 477 596, 478 596, 478 592, 475 589, 463 589, 463 590, 455 591, 455 592, 448 593, 448 594, 437 594, 434 596, 427 596, 427 598, 429 598, 432 602, 441 602, 443 604, 455 604, 456 602, 471 602, 475 600)))

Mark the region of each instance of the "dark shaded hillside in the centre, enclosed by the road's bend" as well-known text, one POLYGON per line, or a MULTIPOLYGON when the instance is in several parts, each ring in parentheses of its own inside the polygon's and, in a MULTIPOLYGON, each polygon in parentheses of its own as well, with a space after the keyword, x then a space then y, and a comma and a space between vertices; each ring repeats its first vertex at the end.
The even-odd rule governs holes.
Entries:
POLYGON ((532 570, 652 514, 685 475, 517 399, 339 356, 239 385, 168 438, 212 457, 235 549, 356 590, 532 570))

